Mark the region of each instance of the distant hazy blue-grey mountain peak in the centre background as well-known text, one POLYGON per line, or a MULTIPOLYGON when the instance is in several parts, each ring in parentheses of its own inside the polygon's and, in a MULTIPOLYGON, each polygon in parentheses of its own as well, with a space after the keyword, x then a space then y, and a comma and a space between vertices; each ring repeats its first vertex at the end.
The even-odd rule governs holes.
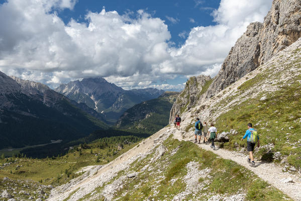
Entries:
POLYGON ((146 100, 157 98, 164 92, 155 88, 124 90, 101 77, 84 78, 81 81, 60 84, 55 91, 104 114, 107 121, 112 124, 127 109, 146 100))

